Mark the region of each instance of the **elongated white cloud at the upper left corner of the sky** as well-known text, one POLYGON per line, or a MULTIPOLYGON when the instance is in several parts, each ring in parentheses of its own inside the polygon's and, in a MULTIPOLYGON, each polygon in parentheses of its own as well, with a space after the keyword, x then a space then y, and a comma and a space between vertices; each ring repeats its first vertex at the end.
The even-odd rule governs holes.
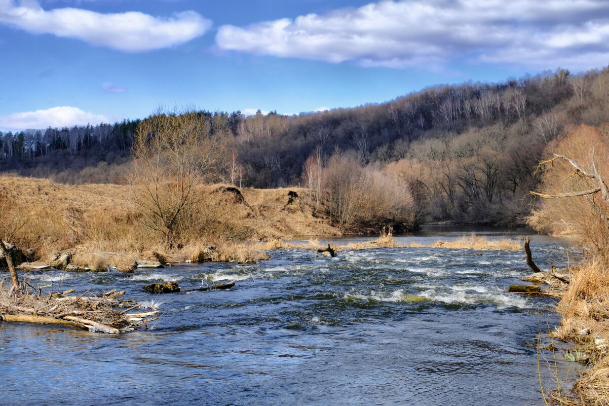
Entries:
POLYGON ((186 11, 171 18, 141 12, 97 13, 66 7, 44 10, 35 0, 0 0, 0 23, 32 34, 76 38, 127 52, 167 48, 203 35, 211 21, 186 11))

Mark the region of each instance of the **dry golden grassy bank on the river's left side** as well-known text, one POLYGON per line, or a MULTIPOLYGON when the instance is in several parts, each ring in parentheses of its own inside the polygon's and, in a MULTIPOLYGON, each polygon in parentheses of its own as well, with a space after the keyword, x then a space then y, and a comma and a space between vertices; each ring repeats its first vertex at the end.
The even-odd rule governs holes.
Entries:
POLYGON ((154 262, 236 261, 265 258, 261 246, 238 241, 288 239, 297 235, 340 235, 298 196, 299 188, 271 190, 205 187, 200 216, 206 232, 191 232, 171 249, 148 227, 126 185, 63 185, 46 179, 0 176, 0 195, 10 204, 4 218, 23 227, 12 243, 30 260, 52 262, 69 252, 71 263, 90 269, 127 270, 134 258, 154 262), (236 191, 235 191, 236 190, 236 191))

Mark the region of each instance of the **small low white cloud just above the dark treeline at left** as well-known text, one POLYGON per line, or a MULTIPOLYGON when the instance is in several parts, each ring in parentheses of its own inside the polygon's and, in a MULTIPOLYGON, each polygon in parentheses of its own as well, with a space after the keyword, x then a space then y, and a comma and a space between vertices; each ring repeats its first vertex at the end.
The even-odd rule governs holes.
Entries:
POLYGON ((73 127, 86 124, 110 123, 110 119, 101 114, 84 112, 78 107, 51 107, 35 112, 13 113, 0 117, 0 128, 7 130, 44 129, 46 127, 73 127))

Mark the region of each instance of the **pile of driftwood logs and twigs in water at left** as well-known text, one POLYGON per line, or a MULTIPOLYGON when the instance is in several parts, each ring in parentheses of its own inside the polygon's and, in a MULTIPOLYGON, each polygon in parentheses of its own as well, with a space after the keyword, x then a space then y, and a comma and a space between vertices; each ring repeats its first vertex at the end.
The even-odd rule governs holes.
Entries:
POLYGON ((118 334, 146 328, 159 313, 157 310, 128 313, 139 304, 122 299, 125 291, 111 290, 97 296, 85 296, 88 292, 69 296, 71 293, 74 290, 43 293, 39 289, 9 295, 8 285, 1 281, 0 320, 118 334))

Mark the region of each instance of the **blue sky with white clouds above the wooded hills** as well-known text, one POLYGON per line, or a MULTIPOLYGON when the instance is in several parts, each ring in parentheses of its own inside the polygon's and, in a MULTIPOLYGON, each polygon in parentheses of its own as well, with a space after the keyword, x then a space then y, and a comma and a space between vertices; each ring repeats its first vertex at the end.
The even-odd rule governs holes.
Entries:
POLYGON ((0 0, 0 130, 278 113, 609 64, 605 0, 0 0))

